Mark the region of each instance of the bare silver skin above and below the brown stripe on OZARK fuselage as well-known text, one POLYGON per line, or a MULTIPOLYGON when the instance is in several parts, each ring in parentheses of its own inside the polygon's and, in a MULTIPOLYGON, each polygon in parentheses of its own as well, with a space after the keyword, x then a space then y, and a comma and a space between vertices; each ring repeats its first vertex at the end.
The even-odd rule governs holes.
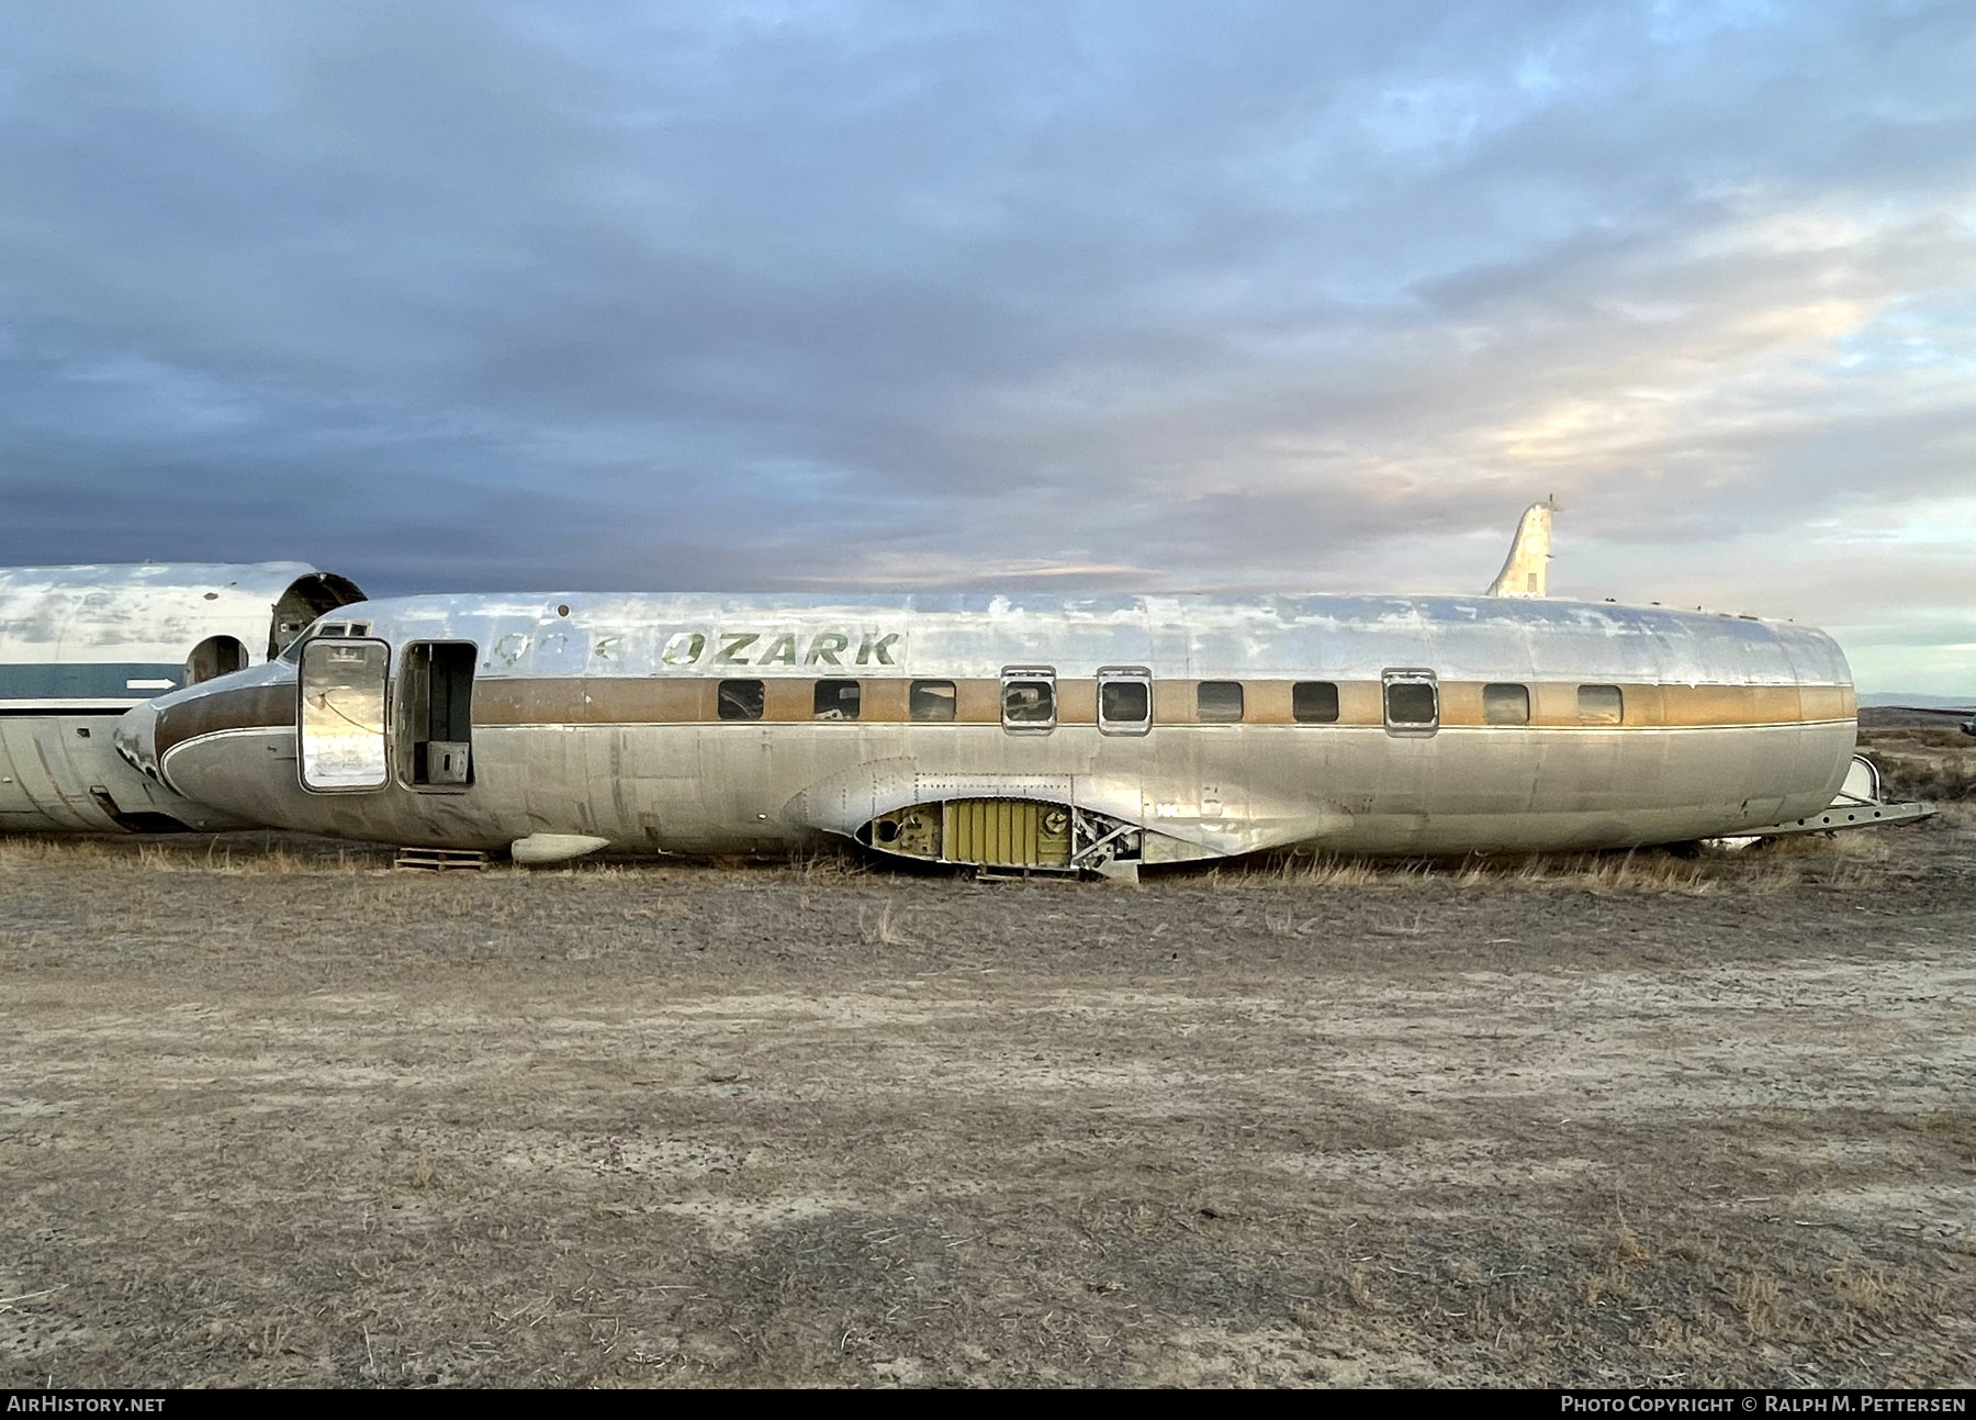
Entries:
MULTIPOLYGON (((338 611, 391 643, 470 641, 476 706, 502 684, 674 676, 1154 678, 1850 686, 1830 637, 1741 617, 1492 597, 409 597, 338 611), (561 611, 567 607, 567 615, 561 611), (696 651, 696 637, 701 645, 696 651), (864 661, 860 663, 860 655, 864 661)), ((1855 722, 1721 728, 1180 726, 1144 738, 1059 724, 484 724, 476 783, 306 793, 294 728, 245 726, 168 748, 158 714, 196 696, 287 686, 273 663, 160 698, 121 740, 168 783, 269 825, 417 846, 500 848, 585 835, 618 850, 777 850, 850 835, 939 797, 1069 801, 1148 831, 1146 860, 1318 844, 1340 852, 1599 848, 1729 835, 1824 809, 1855 722)), ((267 696, 263 696, 267 700, 267 696)))

